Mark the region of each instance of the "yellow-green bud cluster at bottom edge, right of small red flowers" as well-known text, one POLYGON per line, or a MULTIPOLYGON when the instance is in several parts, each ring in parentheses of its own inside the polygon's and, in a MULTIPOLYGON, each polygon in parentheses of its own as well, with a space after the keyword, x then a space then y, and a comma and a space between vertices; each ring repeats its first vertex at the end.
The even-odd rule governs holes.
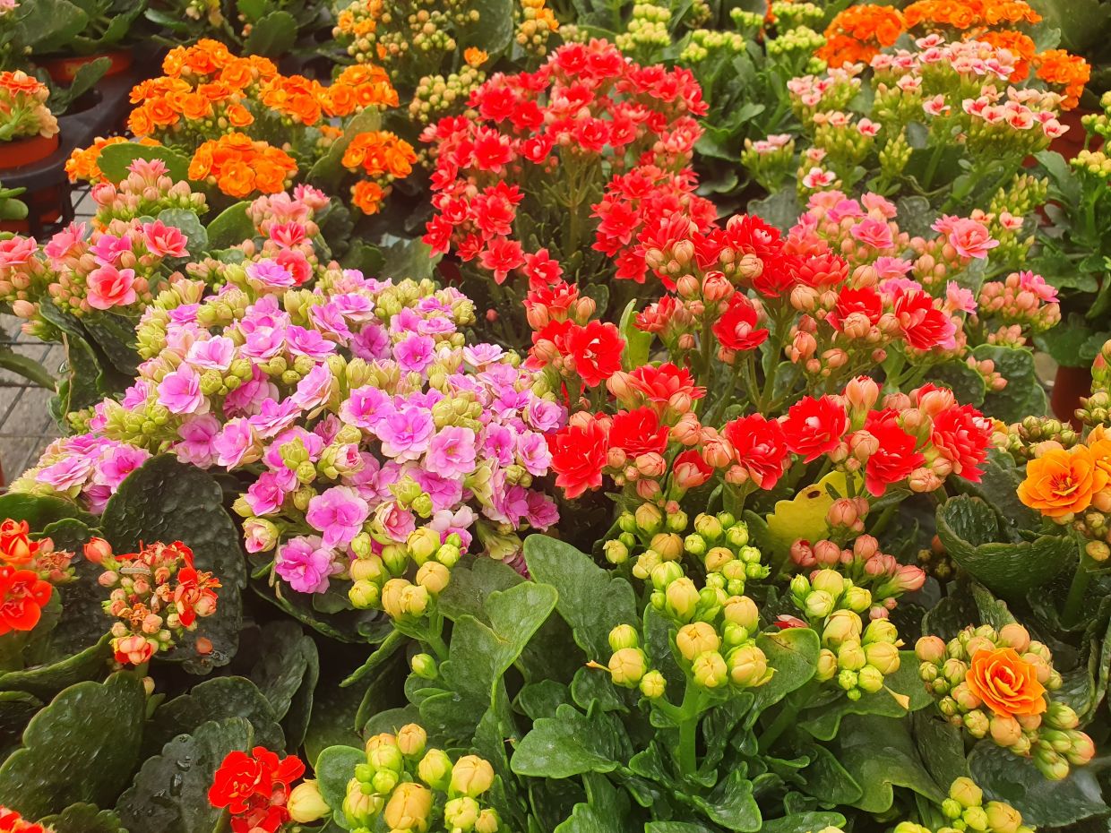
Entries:
POLYGON ((343 815, 353 833, 497 833, 498 811, 482 801, 493 781, 489 761, 463 755, 452 762, 410 723, 367 741, 367 763, 348 782, 343 815))

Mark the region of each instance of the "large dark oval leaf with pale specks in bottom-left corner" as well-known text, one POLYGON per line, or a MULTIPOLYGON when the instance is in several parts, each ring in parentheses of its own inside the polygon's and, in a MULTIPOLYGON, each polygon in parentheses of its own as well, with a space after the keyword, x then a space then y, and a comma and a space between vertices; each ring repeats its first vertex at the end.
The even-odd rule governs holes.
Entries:
POLYGON ((77 802, 111 805, 139 761, 146 700, 131 672, 66 689, 0 766, 0 804, 29 819, 77 802))

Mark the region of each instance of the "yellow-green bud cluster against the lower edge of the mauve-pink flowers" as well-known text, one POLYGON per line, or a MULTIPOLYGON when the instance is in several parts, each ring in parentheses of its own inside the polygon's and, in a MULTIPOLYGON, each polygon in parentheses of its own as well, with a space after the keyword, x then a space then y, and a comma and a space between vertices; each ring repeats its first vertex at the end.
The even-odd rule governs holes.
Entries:
POLYGON ((451 568, 462 555, 462 540, 421 526, 404 544, 386 544, 381 554, 372 551, 371 536, 361 532, 351 542, 349 572, 353 584, 348 598, 359 610, 380 609, 396 622, 421 619, 451 581, 451 568))

